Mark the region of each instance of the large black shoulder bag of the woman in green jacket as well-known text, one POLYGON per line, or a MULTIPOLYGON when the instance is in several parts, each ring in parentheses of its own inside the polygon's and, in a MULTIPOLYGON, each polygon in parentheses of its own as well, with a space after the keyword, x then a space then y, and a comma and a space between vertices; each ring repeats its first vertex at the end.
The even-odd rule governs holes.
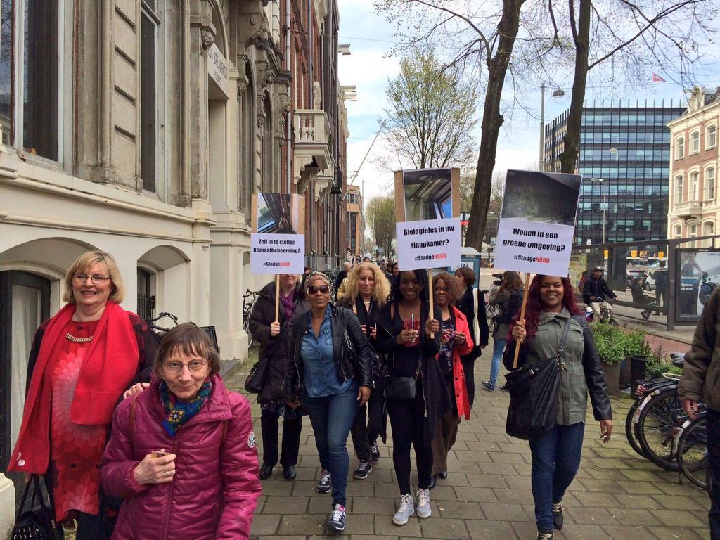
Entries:
POLYGON ((552 359, 522 366, 505 375, 510 392, 510 407, 505 432, 512 437, 531 441, 540 438, 555 426, 560 390, 560 371, 566 369, 560 360, 570 329, 565 322, 557 354, 552 359))

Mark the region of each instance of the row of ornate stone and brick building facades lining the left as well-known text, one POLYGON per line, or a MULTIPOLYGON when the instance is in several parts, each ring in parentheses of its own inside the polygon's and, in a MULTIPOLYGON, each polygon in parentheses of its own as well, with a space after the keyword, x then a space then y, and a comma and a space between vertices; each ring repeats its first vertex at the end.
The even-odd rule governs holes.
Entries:
MULTIPOLYGON (((1 470, 33 333, 74 258, 112 253, 125 309, 214 325, 222 358, 244 359, 242 296, 270 279, 249 271, 251 194, 313 194, 320 231, 344 222, 329 192, 347 122, 334 0, 0 6, 1 470)), ((0 474, 0 536, 12 497, 0 474)))

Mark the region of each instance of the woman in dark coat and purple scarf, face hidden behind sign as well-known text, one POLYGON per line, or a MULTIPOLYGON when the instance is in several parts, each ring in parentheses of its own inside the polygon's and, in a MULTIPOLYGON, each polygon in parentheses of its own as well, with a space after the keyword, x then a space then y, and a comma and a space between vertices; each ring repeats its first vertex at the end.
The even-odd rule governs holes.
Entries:
POLYGON ((305 292, 295 274, 280 276, 280 305, 278 322, 275 322, 275 280, 260 291, 258 300, 250 314, 250 334, 260 343, 258 360, 268 362, 267 377, 258 394, 260 404, 260 427, 263 436, 263 464, 260 479, 271 477, 272 469, 278 462, 279 420, 282 418, 282 453, 280 465, 285 480, 297 476, 295 465, 300 450, 302 432, 302 408, 290 408, 281 399, 282 383, 287 374, 290 358, 290 328, 298 315, 310 309, 305 292))

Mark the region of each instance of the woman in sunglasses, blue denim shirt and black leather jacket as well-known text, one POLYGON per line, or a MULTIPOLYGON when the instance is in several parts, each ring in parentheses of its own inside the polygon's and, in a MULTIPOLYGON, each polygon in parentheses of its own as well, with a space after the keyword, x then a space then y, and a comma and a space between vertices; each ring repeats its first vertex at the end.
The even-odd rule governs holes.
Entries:
POLYGON ((323 472, 318 492, 332 486, 333 510, 325 523, 332 534, 345 530, 349 458, 346 443, 358 406, 372 387, 370 347, 351 310, 330 303, 330 279, 313 272, 305 280, 310 311, 292 323, 291 361, 283 387, 291 407, 302 403, 315 431, 323 472))

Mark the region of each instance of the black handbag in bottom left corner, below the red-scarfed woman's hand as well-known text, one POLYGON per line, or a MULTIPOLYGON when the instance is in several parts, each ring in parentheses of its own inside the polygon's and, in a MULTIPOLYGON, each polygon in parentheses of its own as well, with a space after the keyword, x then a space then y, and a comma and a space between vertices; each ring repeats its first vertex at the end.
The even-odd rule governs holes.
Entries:
MULTIPOLYGON (((48 490, 50 494, 50 490, 48 490)), ((40 476, 33 474, 30 482, 25 485, 22 502, 17 510, 15 526, 12 528, 11 540, 60 540, 63 531, 55 523, 53 505, 48 504, 40 489, 40 476), (25 506, 28 492, 32 490, 30 504, 25 506)))

